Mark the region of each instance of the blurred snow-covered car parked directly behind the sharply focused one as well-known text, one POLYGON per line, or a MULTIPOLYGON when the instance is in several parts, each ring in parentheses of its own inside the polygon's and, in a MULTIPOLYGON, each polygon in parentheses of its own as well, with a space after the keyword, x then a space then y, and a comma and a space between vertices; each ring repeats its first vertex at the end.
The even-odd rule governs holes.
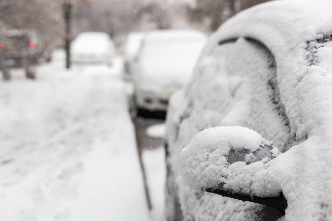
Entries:
POLYGON ((133 73, 138 113, 167 109, 171 94, 188 81, 206 38, 194 30, 146 34, 133 73))

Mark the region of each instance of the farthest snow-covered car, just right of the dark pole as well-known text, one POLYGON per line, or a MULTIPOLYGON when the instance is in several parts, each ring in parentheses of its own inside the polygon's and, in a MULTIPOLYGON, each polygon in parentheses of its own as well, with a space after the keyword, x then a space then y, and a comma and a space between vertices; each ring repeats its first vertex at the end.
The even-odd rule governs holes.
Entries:
POLYGON ((111 64, 114 54, 114 43, 103 32, 82 32, 71 44, 72 61, 75 63, 111 64))

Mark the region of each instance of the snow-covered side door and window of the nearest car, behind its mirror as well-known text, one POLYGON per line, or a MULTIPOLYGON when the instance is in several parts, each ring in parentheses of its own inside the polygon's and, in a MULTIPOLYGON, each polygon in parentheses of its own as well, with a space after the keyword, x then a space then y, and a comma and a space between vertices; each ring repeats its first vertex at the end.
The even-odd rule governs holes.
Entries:
MULTIPOLYGON (((274 140, 280 151, 294 144, 280 100, 276 69, 271 52, 254 39, 219 42, 201 57, 191 84, 182 92, 183 98, 172 99, 173 107, 180 106, 175 100, 186 104, 182 113, 176 113, 171 107, 167 117, 168 131, 171 131, 167 139, 168 182, 176 183, 173 188, 178 193, 185 220, 235 220, 239 216, 239 220, 266 216, 275 220, 282 215, 259 204, 193 190, 183 182, 178 171, 180 151, 198 132, 215 126, 251 128, 274 140)), ((168 210, 172 211, 174 196, 168 197, 171 205, 168 210)))

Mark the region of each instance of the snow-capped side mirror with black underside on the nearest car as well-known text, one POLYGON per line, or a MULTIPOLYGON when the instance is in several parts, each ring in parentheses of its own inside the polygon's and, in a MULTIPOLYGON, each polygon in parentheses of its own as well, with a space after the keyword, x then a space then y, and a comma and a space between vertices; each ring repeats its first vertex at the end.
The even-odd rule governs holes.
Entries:
MULTIPOLYGON (((272 206, 284 213, 287 200, 282 192, 265 196, 251 188, 259 184, 253 182, 254 174, 278 154, 271 141, 252 129, 214 127, 199 132, 181 151, 180 173, 191 188, 272 206)), ((264 185, 258 188, 262 192, 264 185)))

